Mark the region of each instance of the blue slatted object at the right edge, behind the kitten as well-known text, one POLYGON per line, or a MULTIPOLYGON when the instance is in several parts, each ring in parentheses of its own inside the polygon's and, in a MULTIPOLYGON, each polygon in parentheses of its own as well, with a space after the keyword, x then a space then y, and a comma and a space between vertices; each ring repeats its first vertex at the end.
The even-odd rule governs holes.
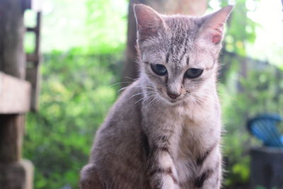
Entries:
POLYGON ((283 135, 279 133, 277 124, 283 121, 277 114, 262 114, 248 120, 248 131, 267 147, 283 147, 283 135))

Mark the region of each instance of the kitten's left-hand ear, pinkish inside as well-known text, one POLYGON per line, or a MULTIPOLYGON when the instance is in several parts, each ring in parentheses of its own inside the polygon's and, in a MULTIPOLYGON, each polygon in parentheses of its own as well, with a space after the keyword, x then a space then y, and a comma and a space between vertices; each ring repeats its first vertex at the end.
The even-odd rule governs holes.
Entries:
POLYGON ((164 27, 163 19, 149 6, 143 4, 134 5, 134 16, 137 21, 137 38, 139 41, 158 35, 158 30, 164 27))

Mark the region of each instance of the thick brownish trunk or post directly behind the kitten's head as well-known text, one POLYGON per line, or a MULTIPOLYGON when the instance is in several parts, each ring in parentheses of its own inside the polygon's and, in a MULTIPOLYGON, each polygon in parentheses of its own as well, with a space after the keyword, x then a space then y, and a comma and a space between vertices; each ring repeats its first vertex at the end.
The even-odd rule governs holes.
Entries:
POLYGON ((201 16, 207 9, 206 0, 131 0, 129 3, 128 33, 126 60, 122 70, 122 86, 127 86, 129 81, 137 79, 137 51, 135 48, 137 41, 137 25, 134 18, 133 5, 146 4, 159 13, 175 14, 183 13, 187 15, 201 16))

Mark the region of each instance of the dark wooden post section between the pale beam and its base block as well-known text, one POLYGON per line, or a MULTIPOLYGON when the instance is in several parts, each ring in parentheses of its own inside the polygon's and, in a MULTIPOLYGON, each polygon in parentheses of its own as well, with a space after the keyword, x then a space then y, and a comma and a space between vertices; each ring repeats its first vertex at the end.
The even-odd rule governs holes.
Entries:
POLYGON ((21 159, 24 115, 0 115, 0 164, 21 159))

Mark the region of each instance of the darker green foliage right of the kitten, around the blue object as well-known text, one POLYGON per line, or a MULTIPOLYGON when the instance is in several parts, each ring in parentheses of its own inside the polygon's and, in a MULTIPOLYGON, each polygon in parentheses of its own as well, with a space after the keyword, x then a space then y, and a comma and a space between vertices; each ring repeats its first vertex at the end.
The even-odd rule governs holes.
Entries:
MULTIPOLYGON (((231 64, 241 64, 227 54, 224 59, 232 59, 231 64)), ((248 183, 248 149, 260 145, 248 134, 247 119, 259 113, 283 115, 282 71, 264 62, 250 61, 247 64, 250 65, 247 76, 229 71, 231 75, 226 76, 226 81, 219 85, 226 130, 223 142, 226 186, 248 183)))

